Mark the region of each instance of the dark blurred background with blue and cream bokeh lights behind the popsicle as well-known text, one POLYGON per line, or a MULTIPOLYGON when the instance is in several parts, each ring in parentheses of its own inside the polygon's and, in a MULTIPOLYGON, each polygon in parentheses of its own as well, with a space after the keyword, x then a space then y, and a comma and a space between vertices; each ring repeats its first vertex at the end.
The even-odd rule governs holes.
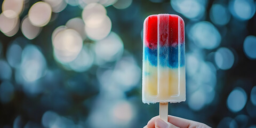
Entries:
POLYGON ((253 0, 4 0, 0 127, 143 127, 143 20, 185 21, 187 100, 169 115, 256 127, 253 0))

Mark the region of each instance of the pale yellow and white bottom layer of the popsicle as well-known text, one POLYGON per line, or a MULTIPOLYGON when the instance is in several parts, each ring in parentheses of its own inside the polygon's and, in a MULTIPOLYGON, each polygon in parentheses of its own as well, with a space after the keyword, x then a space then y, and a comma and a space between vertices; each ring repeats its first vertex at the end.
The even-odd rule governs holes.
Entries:
POLYGON ((142 101, 181 102, 186 100, 185 67, 151 66, 143 62, 142 101))

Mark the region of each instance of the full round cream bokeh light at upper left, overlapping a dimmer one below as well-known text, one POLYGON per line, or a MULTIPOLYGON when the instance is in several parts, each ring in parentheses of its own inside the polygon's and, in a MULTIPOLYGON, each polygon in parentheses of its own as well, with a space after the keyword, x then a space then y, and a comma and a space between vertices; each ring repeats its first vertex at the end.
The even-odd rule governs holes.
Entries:
POLYGON ((47 25, 51 19, 52 9, 51 6, 45 2, 37 2, 30 7, 28 18, 30 22, 37 27, 47 25))

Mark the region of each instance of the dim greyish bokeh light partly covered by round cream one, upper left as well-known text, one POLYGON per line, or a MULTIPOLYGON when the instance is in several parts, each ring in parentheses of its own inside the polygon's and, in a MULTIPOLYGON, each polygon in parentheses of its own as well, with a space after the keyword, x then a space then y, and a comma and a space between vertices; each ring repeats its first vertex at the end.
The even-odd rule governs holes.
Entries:
POLYGON ((41 32, 41 28, 32 25, 28 17, 25 17, 21 21, 21 31, 22 34, 28 39, 34 39, 41 32))

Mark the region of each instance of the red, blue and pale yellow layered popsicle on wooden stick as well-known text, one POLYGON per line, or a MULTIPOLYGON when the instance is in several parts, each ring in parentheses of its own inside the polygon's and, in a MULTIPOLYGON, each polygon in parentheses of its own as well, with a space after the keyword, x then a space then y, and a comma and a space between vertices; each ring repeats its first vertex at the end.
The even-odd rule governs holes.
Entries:
POLYGON ((168 102, 186 100, 185 34, 181 17, 158 14, 145 19, 142 70, 143 103, 159 102, 166 107, 168 102))

